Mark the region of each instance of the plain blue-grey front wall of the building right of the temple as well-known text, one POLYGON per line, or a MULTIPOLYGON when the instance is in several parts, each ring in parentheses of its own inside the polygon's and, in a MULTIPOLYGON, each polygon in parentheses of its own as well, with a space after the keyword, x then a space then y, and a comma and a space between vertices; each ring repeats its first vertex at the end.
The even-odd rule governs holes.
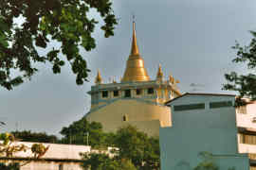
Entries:
MULTIPOLYGON (((197 155, 202 151, 214 155, 238 153, 235 109, 210 109, 210 102, 219 101, 234 102, 234 96, 188 94, 171 102, 173 127, 160 128, 162 170, 180 170, 180 164, 186 163, 192 168, 200 161, 197 155), (206 108, 174 111, 174 106, 198 103, 205 103, 206 108)), ((230 165, 236 164, 236 159, 229 159, 230 165)))

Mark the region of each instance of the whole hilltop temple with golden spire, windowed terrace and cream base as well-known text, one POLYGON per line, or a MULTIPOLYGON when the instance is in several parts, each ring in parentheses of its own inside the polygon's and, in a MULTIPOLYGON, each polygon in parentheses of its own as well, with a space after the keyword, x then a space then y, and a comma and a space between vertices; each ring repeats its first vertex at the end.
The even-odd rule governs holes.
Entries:
MULTIPOLYGON (((173 79, 172 79, 173 80, 173 79)), ((91 110, 85 115, 89 122, 100 122, 103 130, 115 132, 132 125, 150 136, 159 135, 159 127, 172 126, 171 110, 165 102, 179 96, 175 83, 163 77, 159 65, 155 79, 150 79, 137 47, 133 22, 132 47, 120 81, 103 83, 98 71, 91 95, 91 110)))

